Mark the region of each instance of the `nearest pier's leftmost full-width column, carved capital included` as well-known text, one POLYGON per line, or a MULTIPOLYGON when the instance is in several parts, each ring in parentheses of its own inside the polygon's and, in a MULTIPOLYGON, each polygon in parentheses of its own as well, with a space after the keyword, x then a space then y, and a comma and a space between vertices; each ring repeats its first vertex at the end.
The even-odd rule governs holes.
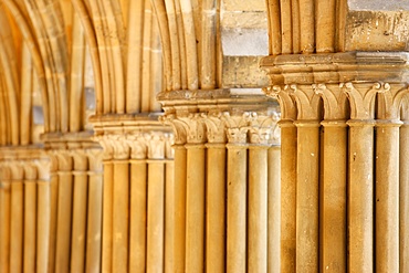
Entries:
POLYGON ((318 272, 319 97, 310 85, 292 85, 297 106, 296 271, 318 272))

